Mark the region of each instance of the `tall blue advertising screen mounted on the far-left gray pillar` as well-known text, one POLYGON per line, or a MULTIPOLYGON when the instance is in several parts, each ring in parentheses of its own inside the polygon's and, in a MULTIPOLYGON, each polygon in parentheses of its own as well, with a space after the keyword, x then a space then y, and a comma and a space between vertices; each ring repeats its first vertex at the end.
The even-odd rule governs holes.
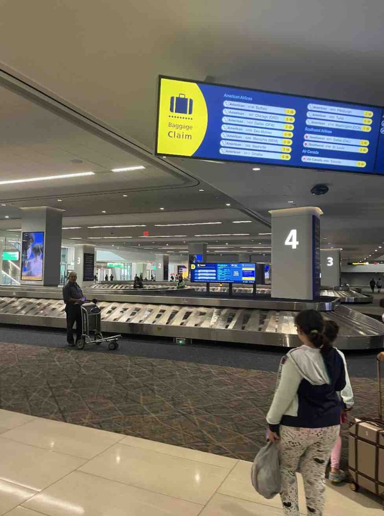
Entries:
POLYGON ((28 231, 22 233, 21 279, 42 280, 44 261, 44 233, 28 231))

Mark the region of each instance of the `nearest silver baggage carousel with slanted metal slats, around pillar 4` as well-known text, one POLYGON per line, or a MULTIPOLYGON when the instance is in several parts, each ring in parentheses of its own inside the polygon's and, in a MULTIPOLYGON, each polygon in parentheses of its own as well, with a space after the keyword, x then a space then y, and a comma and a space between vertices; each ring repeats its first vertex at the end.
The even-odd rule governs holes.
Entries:
MULTIPOLYGON (((295 316, 300 310, 314 308, 340 326, 339 348, 376 349, 384 345, 384 324, 341 305, 334 297, 297 301, 271 299, 266 293, 253 297, 242 292, 229 297, 225 292, 207 295, 193 288, 163 287, 156 292, 98 288, 83 288, 83 292, 89 299, 99 300, 105 332, 296 347, 300 342, 295 316)), ((64 309, 59 287, 0 287, 2 324, 65 328, 64 309)))

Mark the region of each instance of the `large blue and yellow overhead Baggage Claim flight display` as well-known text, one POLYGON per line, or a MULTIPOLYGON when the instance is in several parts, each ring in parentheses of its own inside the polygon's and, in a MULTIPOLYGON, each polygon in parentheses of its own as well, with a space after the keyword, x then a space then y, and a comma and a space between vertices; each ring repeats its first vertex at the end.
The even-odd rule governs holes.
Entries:
POLYGON ((382 174, 384 110, 160 77, 156 154, 382 174))

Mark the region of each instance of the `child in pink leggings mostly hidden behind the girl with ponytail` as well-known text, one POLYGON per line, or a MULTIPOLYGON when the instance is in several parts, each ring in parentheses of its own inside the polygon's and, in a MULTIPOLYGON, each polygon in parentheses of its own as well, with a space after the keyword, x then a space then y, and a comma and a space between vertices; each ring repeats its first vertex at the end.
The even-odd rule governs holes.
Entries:
MULTIPOLYGON (((333 342, 337 337, 337 333, 339 333, 339 327, 331 320, 326 321, 324 333, 328 337, 329 341, 333 342)), ((341 397, 344 404, 344 412, 341 416, 341 423, 346 423, 346 412, 351 410, 354 406, 354 393, 352 392, 344 354, 341 351, 339 351, 339 353, 341 354, 344 361, 346 381, 345 388, 341 392, 341 397)), ((339 436, 339 439, 337 439, 336 444, 334 445, 331 452, 331 471, 329 474, 329 479, 334 485, 344 482, 347 478, 347 473, 340 469, 341 445, 341 436, 339 436)))

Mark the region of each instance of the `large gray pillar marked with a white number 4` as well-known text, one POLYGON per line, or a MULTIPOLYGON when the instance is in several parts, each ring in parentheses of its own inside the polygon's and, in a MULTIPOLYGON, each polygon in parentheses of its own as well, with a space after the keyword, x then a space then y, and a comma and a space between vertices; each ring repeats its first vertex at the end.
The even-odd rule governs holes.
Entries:
POLYGON ((320 291, 320 215, 317 207, 273 209, 272 297, 313 300, 320 291))

